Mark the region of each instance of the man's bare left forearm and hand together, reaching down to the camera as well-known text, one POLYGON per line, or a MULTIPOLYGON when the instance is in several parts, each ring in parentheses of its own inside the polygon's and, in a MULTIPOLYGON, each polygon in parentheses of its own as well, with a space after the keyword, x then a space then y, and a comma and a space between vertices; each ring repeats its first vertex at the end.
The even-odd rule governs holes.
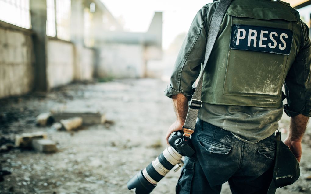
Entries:
POLYGON ((187 112, 188 112, 188 98, 185 97, 182 93, 174 95, 173 106, 174 111, 176 113, 176 121, 169 127, 169 130, 166 133, 166 142, 169 144, 169 135, 173 133, 173 131, 179 131, 183 129, 183 124, 185 123, 187 112))

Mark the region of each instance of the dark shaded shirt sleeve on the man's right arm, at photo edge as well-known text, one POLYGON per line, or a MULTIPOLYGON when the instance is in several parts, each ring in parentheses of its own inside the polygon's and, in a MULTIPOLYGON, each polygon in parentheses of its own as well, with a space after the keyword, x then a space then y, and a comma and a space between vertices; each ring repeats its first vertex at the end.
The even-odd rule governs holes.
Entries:
POLYGON ((284 111, 288 116, 311 117, 311 41, 308 26, 301 23, 300 50, 285 79, 287 104, 284 111))

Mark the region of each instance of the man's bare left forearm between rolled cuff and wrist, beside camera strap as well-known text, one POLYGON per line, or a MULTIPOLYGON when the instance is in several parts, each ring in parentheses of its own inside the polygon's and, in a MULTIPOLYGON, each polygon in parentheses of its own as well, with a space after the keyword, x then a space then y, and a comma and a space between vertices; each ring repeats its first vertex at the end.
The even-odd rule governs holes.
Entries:
POLYGON ((188 99, 182 93, 174 95, 172 99, 177 120, 184 124, 188 112, 188 99))

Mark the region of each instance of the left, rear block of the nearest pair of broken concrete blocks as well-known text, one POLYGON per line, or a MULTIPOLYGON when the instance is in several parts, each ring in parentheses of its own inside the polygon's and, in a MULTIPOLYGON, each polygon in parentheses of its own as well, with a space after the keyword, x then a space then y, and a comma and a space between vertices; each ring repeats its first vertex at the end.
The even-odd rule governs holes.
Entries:
POLYGON ((35 138, 46 139, 47 137, 43 132, 23 133, 15 136, 15 146, 21 148, 31 148, 31 142, 35 138))

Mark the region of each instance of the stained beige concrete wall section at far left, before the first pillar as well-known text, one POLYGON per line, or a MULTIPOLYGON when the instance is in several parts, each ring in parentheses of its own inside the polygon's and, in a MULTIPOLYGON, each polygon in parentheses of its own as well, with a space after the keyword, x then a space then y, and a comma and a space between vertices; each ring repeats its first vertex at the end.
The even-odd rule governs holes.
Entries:
MULTIPOLYGON (((17 28, 17 27, 16 27, 17 28)), ((33 89, 33 44, 30 30, 0 26, 0 98, 33 89)))

